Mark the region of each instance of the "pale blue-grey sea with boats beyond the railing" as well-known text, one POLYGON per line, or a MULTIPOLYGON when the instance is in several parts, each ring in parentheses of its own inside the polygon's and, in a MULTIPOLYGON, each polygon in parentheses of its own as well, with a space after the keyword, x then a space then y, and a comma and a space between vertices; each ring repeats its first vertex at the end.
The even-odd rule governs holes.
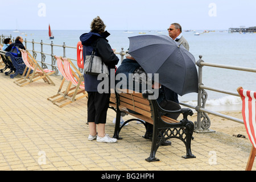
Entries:
MULTIPOLYGON (((51 46, 76 47, 81 34, 89 30, 53 30, 54 39, 48 38, 48 30, 0 30, 0 35, 22 36, 28 42, 46 43, 43 52, 51 54, 51 46)), ((167 30, 108 30, 109 44, 116 52, 129 48, 129 37, 137 35, 167 35, 167 30)), ((238 67, 256 68, 256 34, 255 33, 229 33, 228 30, 187 30, 183 36, 189 43, 189 52, 199 60, 199 55, 207 63, 232 65, 238 67), (199 35, 198 35, 198 34, 199 35)), ((32 49, 32 44, 27 43, 27 49, 32 49)), ((41 51, 40 44, 35 44, 35 50, 41 51)), ((54 55, 63 55, 63 47, 54 47, 54 55)), ((76 59, 75 48, 66 48, 65 56, 76 59)), ((40 53, 38 53, 40 60, 40 53)), ((117 55, 121 58, 119 55, 117 55)), ((46 62, 51 63, 51 57, 46 57, 46 62)), ((119 63, 120 64, 120 63, 119 63)), ((119 65, 118 64, 118 65, 119 65)), ((220 88, 237 92, 238 86, 244 89, 256 90, 256 73, 234 71, 230 69, 203 67, 203 84, 214 88, 220 88)), ((241 110, 241 99, 224 93, 206 90, 207 102, 205 108, 213 111, 241 110)), ((197 93, 189 93, 179 96, 181 102, 196 106, 197 93)))

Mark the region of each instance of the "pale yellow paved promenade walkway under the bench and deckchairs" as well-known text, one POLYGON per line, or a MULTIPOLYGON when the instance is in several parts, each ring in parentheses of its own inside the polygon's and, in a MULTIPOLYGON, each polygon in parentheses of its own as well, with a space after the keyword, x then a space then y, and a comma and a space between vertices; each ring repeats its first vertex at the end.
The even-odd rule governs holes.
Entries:
MULTIPOLYGON (((172 146, 159 147, 160 162, 153 163, 144 160, 151 142, 142 138, 145 129, 136 122, 122 129, 123 139, 117 143, 90 142, 86 98, 60 108, 47 100, 57 93, 60 77, 51 76, 56 86, 40 80, 24 87, 14 84, 19 77, 0 73, 0 170, 245 170, 251 144, 227 142, 230 137, 222 133, 195 133, 195 159, 181 158, 185 146, 173 139, 172 146)), ((115 113, 109 110, 110 135, 113 118, 115 113)))

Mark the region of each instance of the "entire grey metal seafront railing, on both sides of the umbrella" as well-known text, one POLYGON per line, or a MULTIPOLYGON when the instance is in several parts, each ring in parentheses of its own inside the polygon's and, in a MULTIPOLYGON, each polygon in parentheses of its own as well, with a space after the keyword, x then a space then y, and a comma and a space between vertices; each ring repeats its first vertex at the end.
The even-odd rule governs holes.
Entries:
MULTIPOLYGON (((11 38, 11 35, 9 36, 11 38)), ((0 36, 0 43, 3 43, 3 39, 5 39, 5 36, 0 36)), ((14 38, 13 38, 14 40, 14 38)), ((14 42, 14 41, 13 41, 14 42)), ((28 49, 28 51, 32 51, 32 55, 33 57, 36 59, 37 53, 40 54, 41 60, 38 60, 40 63, 42 63, 42 67, 43 68, 47 68, 47 65, 50 65, 52 67, 52 70, 56 71, 56 75, 58 74, 58 70, 57 70, 57 66, 56 66, 56 60, 54 57, 54 47, 62 47, 63 48, 63 57, 66 57, 66 48, 71 48, 74 49, 72 51, 76 50, 76 47, 71 47, 71 46, 66 46, 65 43, 63 43, 63 45, 57 45, 57 44, 53 44, 53 42, 51 42, 51 44, 48 43, 43 43, 43 41, 41 40, 41 42, 35 42, 34 40, 32 40, 32 42, 27 41, 26 39, 24 40, 25 46, 27 47, 28 43, 32 44, 32 49, 28 49), (40 51, 36 51, 35 50, 35 44, 40 44, 40 51), (46 53, 43 51, 43 46, 51 46, 51 53, 46 53), (51 56, 51 64, 46 63, 46 55, 51 56)), ((126 52, 123 51, 123 48, 121 48, 120 52, 115 52, 116 54, 121 56, 121 61, 123 60, 123 56, 125 56, 126 52)), ((61 56, 61 55, 59 55, 61 56)), ((229 90, 224 90, 221 88, 214 88, 211 86, 206 86, 203 84, 203 67, 207 66, 207 67, 216 67, 216 68, 224 68, 224 69, 233 69, 233 70, 237 70, 237 71, 246 71, 246 72, 254 72, 256 73, 256 69, 255 68, 245 68, 245 67, 234 67, 231 65, 222 65, 222 64, 213 64, 213 63, 205 63, 202 60, 203 56, 199 56, 199 60, 197 61, 196 65, 199 67, 199 92, 197 95, 197 106, 193 106, 193 105, 189 105, 186 104, 184 102, 180 102, 180 105, 186 106, 186 107, 191 107, 192 109, 195 109, 197 111, 197 121, 195 122, 195 131, 201 133, 206 133, 206 132, 210 132, 210 118, 208 117, 208 114, 213 114, 216 115, 218 117, 222 117, 222 118, 226 118, 229 119, 231 121, 234 122, 238 122, 238 123, 243 123, 243 120, 238 119, 238 118, 234 118, 234 117, 230 117, 229 115, 225 115, 225 114, 221 114, 221 113, 217 113, 208 109, 205 109, 205 103, 207 102, 207 97, 208 94, 205 90, 212 90, 213 92, 219 92, 219 93, 225 93, 225 94, 229 94, 232 96, 237 96, 239 97, 238 93, 236 92, 231 92, 229 90)), ((77 59, 75 58, 70 58, 67 57, 69 59, 71 59, 72 61, 77 61, 77 59)), ((79 70, 82 72, 82 70, 79 68, 79 70)))

